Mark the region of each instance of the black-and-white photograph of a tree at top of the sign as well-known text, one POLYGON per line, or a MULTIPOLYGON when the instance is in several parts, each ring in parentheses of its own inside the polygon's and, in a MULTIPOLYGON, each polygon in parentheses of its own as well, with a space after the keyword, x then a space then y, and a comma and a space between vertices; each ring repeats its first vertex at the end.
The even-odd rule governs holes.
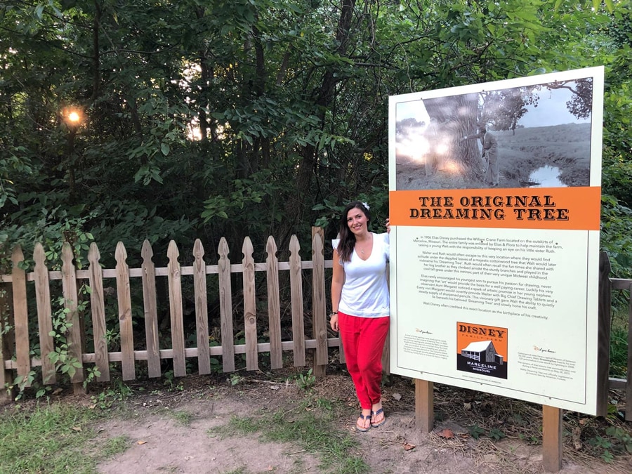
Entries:
POLYGON ((396 189, 587 186, 593 78, 397 103, 396 189))

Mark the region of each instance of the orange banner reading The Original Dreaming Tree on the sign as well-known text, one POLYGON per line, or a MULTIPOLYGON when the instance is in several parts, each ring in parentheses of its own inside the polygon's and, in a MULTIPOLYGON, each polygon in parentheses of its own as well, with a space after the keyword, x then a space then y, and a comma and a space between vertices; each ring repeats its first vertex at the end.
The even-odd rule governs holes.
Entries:
POLYGON ((599 230, 601 187, 390 192, 391 225, 599 230))

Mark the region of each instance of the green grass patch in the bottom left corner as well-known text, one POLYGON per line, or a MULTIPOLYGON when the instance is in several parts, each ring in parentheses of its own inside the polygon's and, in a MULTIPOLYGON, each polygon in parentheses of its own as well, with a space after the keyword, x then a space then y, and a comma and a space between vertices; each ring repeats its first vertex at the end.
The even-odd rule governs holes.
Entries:
MULTIPOLYGON (((84 450, 96 437, 90 426, 97 416, 63 404, 6 410, 0 416, 0 473, 95 473, 97 456, 84 450)), ((122 450, 121 440, 110 440, 98 455, 122 450)))

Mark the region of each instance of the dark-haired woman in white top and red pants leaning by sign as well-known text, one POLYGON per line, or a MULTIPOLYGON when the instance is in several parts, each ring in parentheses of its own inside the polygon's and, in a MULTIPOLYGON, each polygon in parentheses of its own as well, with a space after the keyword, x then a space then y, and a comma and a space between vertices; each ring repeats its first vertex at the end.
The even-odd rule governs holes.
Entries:
POLYGON ((390 321, 386 234, 369 232, 369 206, 348 204, 341 216, 340 239, 334 244, 331 279, 331 329, 340 331, 347 369, 362 413, 355 428, 368 431, 386 423, 381 402, 382 352, 390 321))

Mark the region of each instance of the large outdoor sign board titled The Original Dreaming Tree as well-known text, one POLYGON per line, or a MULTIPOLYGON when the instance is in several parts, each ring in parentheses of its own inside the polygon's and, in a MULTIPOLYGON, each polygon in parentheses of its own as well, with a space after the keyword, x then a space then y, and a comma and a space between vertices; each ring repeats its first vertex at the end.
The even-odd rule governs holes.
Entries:
POLYGON ((597 410, 603 68, 393 96, 391 371, 597 410))

